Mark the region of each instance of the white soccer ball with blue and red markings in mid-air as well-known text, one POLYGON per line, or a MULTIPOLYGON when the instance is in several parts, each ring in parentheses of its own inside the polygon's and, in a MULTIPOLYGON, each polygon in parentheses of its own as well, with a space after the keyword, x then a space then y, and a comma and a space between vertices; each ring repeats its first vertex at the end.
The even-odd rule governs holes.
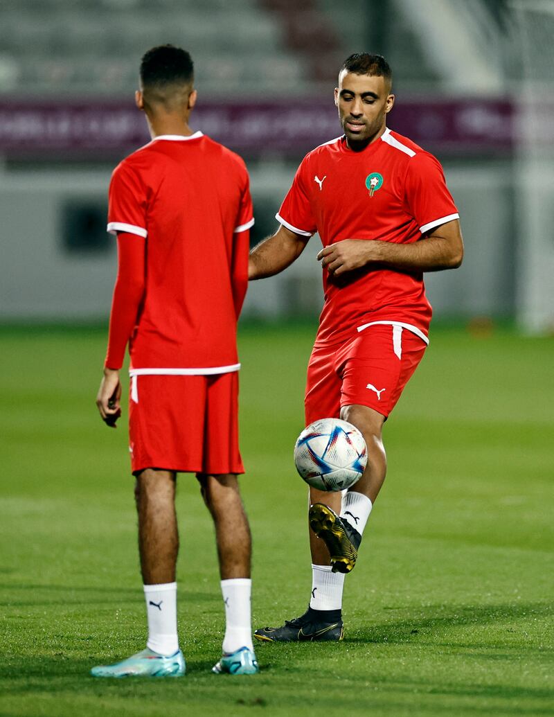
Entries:
POLYGON ((368 462, 363 435, 351 423, 322 418, 305 428, 295 445, 295 465, 308 485, 345 490, 362 475, 368 462))

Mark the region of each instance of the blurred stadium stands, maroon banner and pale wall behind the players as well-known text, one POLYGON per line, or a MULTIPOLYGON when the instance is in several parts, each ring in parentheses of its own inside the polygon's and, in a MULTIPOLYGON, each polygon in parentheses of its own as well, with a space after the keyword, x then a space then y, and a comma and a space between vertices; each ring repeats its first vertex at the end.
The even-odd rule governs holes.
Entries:
MULTIPOLYGON (((155 44, 196 64, 194 128, 242 154, 257 219, 274 214, 300 158, 338 136, 338 67, 388 58, 391 128, 435 153, 462 215, 457 272, 427 276, 435 315, 554 328, 553 0, 2 0, 0 320, 105 318, 115 247, 110 172, 148 141, 133 105, 155 44)), ((317 239, 253 285, 249 316, 315 315, 317 239)))

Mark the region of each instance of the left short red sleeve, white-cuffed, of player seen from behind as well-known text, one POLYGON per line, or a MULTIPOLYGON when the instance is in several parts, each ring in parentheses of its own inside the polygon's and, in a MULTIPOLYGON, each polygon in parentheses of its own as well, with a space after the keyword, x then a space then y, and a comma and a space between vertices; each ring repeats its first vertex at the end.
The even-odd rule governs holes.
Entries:
POLYGON ((108 232, 147 237, 146 190, 138 173, 125 162, 115 168, 108 193, 108 232))

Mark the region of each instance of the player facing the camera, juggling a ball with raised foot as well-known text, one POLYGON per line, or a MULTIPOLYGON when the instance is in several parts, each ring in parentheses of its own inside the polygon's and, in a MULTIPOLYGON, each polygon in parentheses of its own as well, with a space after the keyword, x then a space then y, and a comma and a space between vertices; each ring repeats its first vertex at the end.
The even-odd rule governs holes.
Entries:
POLYGON ((305 422, 340 417, 363 433, 368 465, 341 500, 310 488, 312 594, 307 612, 259 640, 340 640, 345 573, 386 474, 383 423, 429 343, 423 272, 459 267, 459 214, 439 162, 386 126, 391 68, 353 54, 338 76, 343 136, 307 154, 277 219, 252 250, 249 278, 289 266, 319 232, 325 304, 307 369, 305 422))

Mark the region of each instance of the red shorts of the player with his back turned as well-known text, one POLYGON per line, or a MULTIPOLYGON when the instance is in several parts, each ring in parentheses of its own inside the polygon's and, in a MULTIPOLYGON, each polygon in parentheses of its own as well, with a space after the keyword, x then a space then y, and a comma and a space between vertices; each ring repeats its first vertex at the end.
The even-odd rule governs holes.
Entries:
POLYGON ((244 473, 239 376, 134 376, 129 397, 131 470, 244 473))

